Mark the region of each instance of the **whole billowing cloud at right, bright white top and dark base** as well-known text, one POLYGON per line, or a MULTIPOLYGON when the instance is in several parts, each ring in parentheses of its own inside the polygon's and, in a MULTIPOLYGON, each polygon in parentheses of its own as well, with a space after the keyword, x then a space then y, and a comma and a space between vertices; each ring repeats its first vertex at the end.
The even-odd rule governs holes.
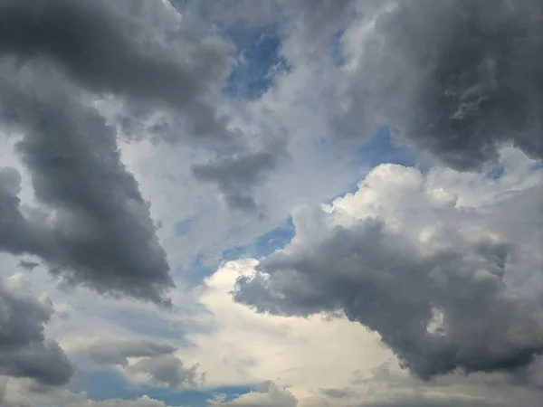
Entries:
POLYGON ((297 213, 294 239, 238 279, 234 298, 278 315, 341 310, 424 379, 528 365, 543 352, 543 309, 519 281, 542 267, 529 254, 541 225, 527 223, 541 216, 541 173, 509 193, 479 175, 494 203, 470 207, 440 172, 378 166, 356 194, 297 213))

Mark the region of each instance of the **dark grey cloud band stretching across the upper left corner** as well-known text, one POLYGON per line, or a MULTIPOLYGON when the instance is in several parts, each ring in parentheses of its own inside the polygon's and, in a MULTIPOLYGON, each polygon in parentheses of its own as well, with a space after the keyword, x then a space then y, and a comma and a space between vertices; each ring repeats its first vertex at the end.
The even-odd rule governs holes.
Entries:
MULTIPOLYGON (((153 3, 148 14, 166 13, 162 2, 153 3)), ((166 18, 154 27, 164 33, 152 32, 146 8, 142 2, 52 0, 36 6, 8 0, 0 5, 0 53, 23 61, 44 57, 92 92, 189 109, 192 131, 226 137, 202 99, 208 84, 228 71, 225 47, 183 33, 166 18), (165 46, 158 34, 169 44, 181 42, 184 54, 165 46)))

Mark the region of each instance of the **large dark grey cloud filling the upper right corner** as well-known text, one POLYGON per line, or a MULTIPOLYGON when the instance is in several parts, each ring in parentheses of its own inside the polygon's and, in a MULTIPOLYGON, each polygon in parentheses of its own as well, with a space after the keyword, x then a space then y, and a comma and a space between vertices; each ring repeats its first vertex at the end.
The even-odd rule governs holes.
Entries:
POLYGON ((390 123, 461 170, 494 160, 503 143, 542 158, 542 19, 538 0, 395 2, 360 44, 335 128, 359 135, 390 123))

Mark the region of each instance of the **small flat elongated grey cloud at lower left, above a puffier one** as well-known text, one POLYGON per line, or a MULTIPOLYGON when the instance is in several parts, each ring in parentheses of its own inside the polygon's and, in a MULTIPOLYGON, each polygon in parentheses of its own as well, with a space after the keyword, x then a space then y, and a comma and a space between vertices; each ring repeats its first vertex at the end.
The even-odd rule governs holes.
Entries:
POLYGON ((129 357, 154 357, 169 355, 176 347, 150 340, 100 340, 90 346, 87 352, 97 364, 129 364, 129 357))

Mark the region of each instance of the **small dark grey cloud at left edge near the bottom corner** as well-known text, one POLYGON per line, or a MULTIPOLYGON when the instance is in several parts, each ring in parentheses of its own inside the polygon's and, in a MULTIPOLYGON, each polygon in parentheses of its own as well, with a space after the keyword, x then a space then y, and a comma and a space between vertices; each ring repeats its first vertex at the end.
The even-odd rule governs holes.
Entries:
POLYGON ((0 374, 44 385, 67 383, 73 366, 61 347, 43 335, 53 312, 48 300, 34 298, 13 281, 0 281, 0 304, 0 374))

